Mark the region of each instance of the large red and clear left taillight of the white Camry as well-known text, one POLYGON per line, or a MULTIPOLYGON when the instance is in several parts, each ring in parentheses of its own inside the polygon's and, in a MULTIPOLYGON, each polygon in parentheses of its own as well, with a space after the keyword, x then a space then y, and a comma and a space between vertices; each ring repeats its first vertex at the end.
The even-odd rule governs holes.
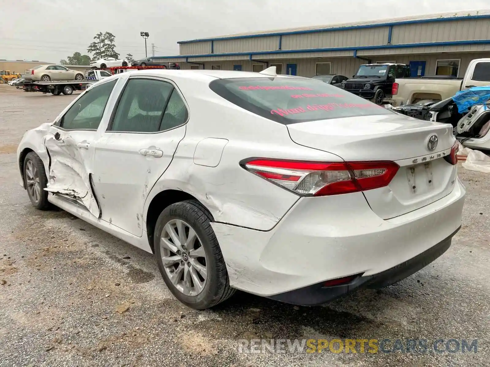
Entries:
POLYGON ((311 162, 252 159, 250 172, 301 196, 324 196, 386 186, 398 164, 390 161, 311 162))

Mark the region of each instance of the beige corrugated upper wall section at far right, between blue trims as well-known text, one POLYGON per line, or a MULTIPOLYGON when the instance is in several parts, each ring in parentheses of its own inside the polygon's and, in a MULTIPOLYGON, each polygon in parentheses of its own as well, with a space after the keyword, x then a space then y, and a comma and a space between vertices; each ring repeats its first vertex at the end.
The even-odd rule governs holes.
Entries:
POLYGON ((486 40, 489 35, 490 22, 484 19, 405 24, 393 26, 392 44, 486 40))

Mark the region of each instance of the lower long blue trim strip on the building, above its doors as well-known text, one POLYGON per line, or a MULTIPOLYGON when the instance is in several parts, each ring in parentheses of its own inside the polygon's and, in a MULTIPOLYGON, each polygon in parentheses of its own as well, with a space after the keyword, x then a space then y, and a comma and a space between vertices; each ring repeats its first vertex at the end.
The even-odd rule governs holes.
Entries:
POLYGON ((411 47, 426 47, 426 46, 461 46, 461 45, 487 45, 490 40, 468 40, 468 41, 442 41, 442 42, 427 42, 419 44, 401 44, 401 45, 377 45, 377 46, 349 46, 349 47, 329 47, 329 48, 305 48, 297 50, 275 50, 275 51, 254 51, 254 52, 230 52, 230 53, 206 53, 202 55, 176 55, 176 56, 155 56, 155 59, 179 59, 190 57, 219 57, 219 56, 249 56, 253 55, 268 55, 274 53, 308 53, 308 52, 326 52, 326 51, 359 51, 381 48, 411 48, 411 47))

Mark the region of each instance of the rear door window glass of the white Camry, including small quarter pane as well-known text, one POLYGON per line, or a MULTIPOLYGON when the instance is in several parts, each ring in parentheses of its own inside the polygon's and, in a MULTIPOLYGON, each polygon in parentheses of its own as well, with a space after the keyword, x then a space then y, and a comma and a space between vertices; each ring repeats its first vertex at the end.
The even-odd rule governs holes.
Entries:
POLYGON ((110 131, 156 133, 187 120, 187 109, 173 85, 154 79, 129 79, 110 131))

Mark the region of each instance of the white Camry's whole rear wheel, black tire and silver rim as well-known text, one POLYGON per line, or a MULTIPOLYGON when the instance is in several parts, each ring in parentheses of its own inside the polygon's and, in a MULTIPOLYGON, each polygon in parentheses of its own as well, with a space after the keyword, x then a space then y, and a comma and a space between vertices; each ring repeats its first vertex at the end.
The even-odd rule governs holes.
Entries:
POLYGON ((196 310, 215 306, 235 293, 212 220, 198 201, 187 200, 165 208, 154 233, 158 268, 167 287, 196 310))

